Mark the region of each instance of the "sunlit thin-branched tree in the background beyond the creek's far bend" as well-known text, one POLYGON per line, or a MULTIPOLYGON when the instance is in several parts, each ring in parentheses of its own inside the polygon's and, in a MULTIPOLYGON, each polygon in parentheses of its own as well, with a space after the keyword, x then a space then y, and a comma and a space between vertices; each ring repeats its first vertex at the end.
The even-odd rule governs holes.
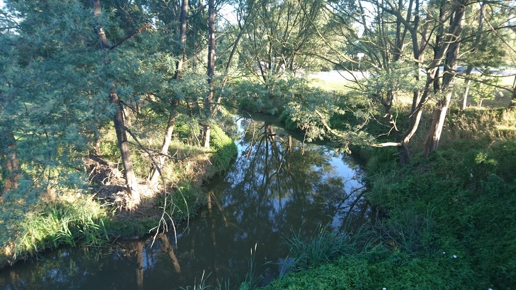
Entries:
POLYGON ((249 29, 239 53, 240 66, 263 83, 268 77, 320 66, 316 55, 326 50, 320 38, 332 35, 321 2, 260 0, 247 5, 253 9, 253 17, 246 19, 249 29), (312 23, 322 35, 316 33, 312 23))

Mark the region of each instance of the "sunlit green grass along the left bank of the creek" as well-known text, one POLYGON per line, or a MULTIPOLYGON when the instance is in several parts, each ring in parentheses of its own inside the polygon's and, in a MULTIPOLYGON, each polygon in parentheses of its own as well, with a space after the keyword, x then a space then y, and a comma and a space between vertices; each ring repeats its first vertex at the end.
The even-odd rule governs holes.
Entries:
MULTIPOLYGON (((214 126, 212 134, 210 153, 175 163, 167 172, 167 178, 173 178, 177 185, 167 201, 167 213, 176 221, 195 215, 198 203, 206 198, 200 189, 202 182, 228 170, 237 154, 232 139, 218 126, 214 126)), ((110 137, 106 136, 105 141, 110 137)), ((173 146, 181 151, 180 154, 197 150, 179 141, 173 146)), ((116 150, 110 148, 106 144, 101 151, 108 157, 118 158, 116 150)), ((137 156, 134 160, 140 158, 137 156)), ((140 167, 148 169, 149 166, 140 167)), ((158 224, 162 212, 160 206, 165 204, 162 196, 144 198, 145 206, 138 213, 123 215, 117 214, 114 204, 93 199, 85 192, 77 198, 77 192, 60 189, 55 195, 48 195, 21 184, 17 190, 0 197, 0 268, 63 245, 100 246, 114 237, 149 234, 149 230, 158 224)))

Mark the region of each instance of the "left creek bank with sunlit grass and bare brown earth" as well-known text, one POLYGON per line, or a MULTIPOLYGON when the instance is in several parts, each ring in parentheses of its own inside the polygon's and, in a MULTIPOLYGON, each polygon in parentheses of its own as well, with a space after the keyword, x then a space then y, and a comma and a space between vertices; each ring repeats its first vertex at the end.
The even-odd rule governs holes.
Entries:
MULTIPOLYGON (((179 124, 176 130, 179 137, 170 148, 179 158, 173 166, 164 169, 171 184, 167 188, 171 194, 166 203, 162 190, 152 190, 146 180, 141 179, 139 183, 146 189, 142 192, 141 204, 136 210, 124 208, 124 194, 120 191, 123 186, 112 182, 111 175, 120 174, 120 171, 110 160, 117 155, 117 147, 111 145, 115 149, 102 148, 105 156, 85 158, 84 169, 88 173, 96 172, 96 179, 103 179, 102 184, 92 177, 87 190, 53 191, 30 199, 19 199, 15 191, 1 196, 0 268, 65 245, 103 246, 120 238, 142 237, 157 227, 165 204, 167 222, 172 219, 177 223, 195 216, 198 205, 206 200, 202 184, 228 170, 237 149, 233 140, 218 126, 212 128, 209 151, 182 141, 181 130, 179 124), (112 152, 115 153, 110 156, 112 152), (106 182, 108 177, 111 179, 106 182)), ((190 128, 183 131, 189 132, 190 128)), ((139 161, 142 165, 136 170, 142 175, 150 162, 139 161)), ((159 230, 163 231, 163 224, 159 230)))

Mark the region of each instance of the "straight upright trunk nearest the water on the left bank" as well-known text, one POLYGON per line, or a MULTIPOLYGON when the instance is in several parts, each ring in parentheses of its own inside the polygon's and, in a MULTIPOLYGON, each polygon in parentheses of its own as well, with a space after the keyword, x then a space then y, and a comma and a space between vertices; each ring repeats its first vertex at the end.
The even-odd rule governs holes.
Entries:
POLYGON ((204 99, 205 124, 203 125, 202 140, 204 148, 209 149, 209 117, 212 115, 213 80, 215 75, 215 1, 208 0, 208 87, 209 93, 204 99))

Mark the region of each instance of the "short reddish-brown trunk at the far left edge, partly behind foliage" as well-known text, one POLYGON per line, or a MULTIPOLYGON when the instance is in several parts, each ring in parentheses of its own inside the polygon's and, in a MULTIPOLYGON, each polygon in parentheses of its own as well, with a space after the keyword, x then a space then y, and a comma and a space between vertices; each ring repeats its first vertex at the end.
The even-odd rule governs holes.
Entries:
MULTIPOLYGON (((10 128, 2 131, 2 155, 5 157, 8 176, 5 179, 4 191, 18 187, 18 182, 22 176, 20 171, 20 159, 16 153, 16 140, 10 128)), ((1 194, 1 192, 0 192, 1 194)))

